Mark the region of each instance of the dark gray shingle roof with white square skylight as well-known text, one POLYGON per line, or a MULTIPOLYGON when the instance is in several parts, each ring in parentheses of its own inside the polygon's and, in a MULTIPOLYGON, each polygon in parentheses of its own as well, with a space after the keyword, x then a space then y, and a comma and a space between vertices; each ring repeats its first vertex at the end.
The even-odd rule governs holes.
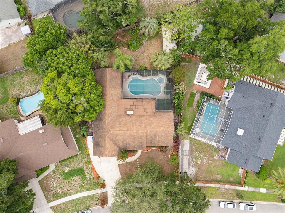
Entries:
POLYGON ((259 171, 262 159, 271 160, 285 127, 285 96, 240 80, 228 107, 233 115, 222 145, 231 148, 227 161, 259 171), (244 130, 237 135, 238 128, 244 130))

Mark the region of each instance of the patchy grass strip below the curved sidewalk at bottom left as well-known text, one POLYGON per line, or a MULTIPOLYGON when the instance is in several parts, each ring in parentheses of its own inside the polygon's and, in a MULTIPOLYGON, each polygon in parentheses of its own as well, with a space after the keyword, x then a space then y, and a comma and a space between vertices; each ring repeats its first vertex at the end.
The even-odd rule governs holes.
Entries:
POLYGON ((50 207, 54 213, 72 213, 96 206, 98 195, 87 195, 50 207))

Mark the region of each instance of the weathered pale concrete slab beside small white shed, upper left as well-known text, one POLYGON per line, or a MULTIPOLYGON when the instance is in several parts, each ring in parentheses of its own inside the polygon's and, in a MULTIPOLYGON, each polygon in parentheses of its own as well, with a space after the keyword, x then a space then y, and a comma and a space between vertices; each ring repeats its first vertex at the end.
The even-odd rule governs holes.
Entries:
POLYGON ((13 25, 12 27, 0 29, 0 48, 8 46, 10 43, 23 40, 26 36, 23 35, 21 27, 25 26, 24 22, 20 26, 13 25))

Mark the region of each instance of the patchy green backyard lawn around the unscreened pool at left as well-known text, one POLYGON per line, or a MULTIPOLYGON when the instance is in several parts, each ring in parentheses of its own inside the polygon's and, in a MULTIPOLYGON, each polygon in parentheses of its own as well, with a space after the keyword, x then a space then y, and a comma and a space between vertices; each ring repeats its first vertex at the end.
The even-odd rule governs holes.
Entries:
POLYGON ((9 98, 31 95, 40 89, 42 82, 41 76, 28 69, 0 78, 0 119, 19 118, 16 105, 9 98))

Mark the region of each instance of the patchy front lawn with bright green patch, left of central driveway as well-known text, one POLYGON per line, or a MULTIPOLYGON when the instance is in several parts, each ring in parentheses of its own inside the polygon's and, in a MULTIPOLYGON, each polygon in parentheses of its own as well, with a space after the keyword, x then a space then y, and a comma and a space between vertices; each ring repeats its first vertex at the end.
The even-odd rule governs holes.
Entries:
POLYGON ((94 179, 85 138, 79 126, 73 128, 80 153, 76 157, 55 163, 55 169, 39 181, 48 202, 99 187, 94 179))

